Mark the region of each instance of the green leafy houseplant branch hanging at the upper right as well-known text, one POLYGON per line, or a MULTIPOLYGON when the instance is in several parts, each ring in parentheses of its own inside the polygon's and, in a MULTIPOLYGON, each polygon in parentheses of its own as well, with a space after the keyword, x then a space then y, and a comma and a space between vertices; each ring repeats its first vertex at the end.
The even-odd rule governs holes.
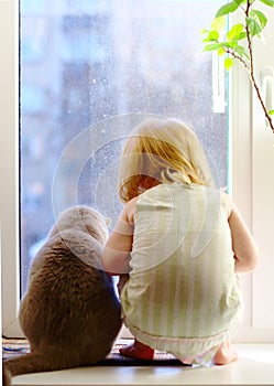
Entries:
POLYGON ((205 36, 202 39, 205 51, 217 51, 218 55, 226 55, 224 67, 227 71, 231 68, 234 61, 240 62, 246 69, 265 119, 274 133, 272 119, 274 106, 271 109, 266 107, 262 87, 254 74, 253 39, 263 41, 263 30, 267 24, 265 12, 255 8, 259 3, 274 8, 274 0, 232 0, 219 8, 210 30, 202 30, 201 33, 205 36), (238 19, 241 21, 226 29, 227 17, 235 12, 239 13, 238 19))

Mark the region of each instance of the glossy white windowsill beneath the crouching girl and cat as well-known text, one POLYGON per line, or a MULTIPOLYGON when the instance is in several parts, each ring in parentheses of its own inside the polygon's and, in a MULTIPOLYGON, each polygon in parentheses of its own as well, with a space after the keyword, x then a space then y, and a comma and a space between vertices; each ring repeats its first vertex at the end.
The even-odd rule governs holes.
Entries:
POLYGON ((239 360, 227 366, 109 366, 19 375, 14 386, 84 385, 274 385, 274 344, 235 344, 239 360))

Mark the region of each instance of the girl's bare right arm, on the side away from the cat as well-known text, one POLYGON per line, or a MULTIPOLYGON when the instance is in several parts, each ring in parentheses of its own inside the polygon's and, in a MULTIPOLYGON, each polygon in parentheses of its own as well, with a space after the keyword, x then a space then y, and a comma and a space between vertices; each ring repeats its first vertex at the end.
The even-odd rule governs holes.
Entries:
MULTIPOLYGON (((227 196, 227 199, 229 199, 227 196)), ((248 272, 253 270, 259 260, 257 246, 246 227, 235 204, 230 201, 230 213, 228 217, 231 237, 232 249, 235 259, 235 272, 248 272)))

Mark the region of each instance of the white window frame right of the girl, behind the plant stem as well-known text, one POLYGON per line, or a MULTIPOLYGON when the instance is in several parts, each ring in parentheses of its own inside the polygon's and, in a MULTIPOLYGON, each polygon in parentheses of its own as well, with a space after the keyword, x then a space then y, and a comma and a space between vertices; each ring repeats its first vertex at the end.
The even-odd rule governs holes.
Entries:
MULTIPOLYGON (((260 87, 265 66, 274 68, 271 49, 274 9, 264 7, 262 11, 267 12, 268 19, 265 43, 259 40, 253 42, 254 75, 260 87)), ((253 274, 242 276, 249 320, 238 330, 235 340, 271 343, 274 342, 274 282, 270 276, 274 270, 274 202, 271 194, 274 192, 274 173, 270 169, 274 164, 274 135, 265 125, 248 73, 240 65, 235 65, 231 73, 229 89, 231 194, 259 245, 261 260, 253 274)))

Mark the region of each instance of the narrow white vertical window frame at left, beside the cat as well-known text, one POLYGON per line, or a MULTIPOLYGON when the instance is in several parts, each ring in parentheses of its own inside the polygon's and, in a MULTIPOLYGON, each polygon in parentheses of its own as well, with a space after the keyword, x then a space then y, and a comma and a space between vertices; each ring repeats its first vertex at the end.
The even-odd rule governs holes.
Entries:
POLYGON ((0 221, 2 333, 20 336, 19 286, 19 3, 0 1, 0 221))

